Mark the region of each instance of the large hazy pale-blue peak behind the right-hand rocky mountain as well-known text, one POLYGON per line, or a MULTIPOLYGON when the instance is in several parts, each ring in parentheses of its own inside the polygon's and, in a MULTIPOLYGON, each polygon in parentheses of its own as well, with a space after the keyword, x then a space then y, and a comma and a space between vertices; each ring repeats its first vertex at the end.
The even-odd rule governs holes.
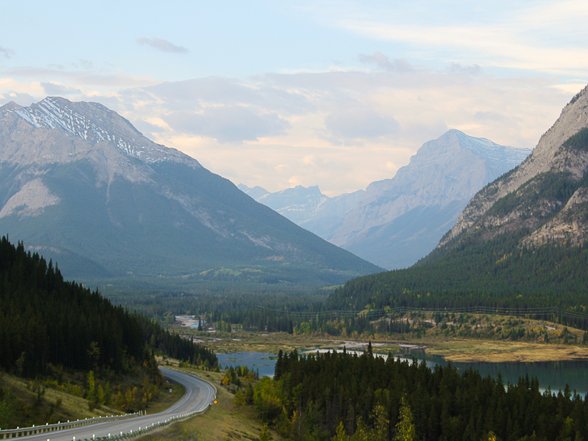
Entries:
POLYGON ((425 256, 479 189, 529 155, 450 130, 392 179, 373 182, 330 242, 389 269, 425 256))

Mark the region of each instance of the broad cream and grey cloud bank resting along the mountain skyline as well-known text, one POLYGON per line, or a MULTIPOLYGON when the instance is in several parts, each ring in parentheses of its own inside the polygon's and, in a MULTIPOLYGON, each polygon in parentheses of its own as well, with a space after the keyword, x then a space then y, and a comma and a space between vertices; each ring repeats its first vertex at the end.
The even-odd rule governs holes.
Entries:
POLYGON ((533 147, 582 88, 552 76, 501 78, 472 62, 435 69, 381 52, 360 59, 373 68, 168 82, 112 71, 5 68, 0 103, 29 105, 81 91, 68 98, 103 103, 153 141, 233 182, 268 191, 319 185, 335 196, 392 178, 449 127, 533 147), (31 73, 42 83, 11 78, 31 73))

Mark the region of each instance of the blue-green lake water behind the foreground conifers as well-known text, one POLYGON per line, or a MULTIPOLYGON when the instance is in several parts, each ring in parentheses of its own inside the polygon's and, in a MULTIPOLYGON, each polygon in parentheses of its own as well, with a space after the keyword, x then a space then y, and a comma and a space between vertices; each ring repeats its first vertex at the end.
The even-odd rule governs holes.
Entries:
MULTIPOLYGON (((327 350, 320 350, 326 352, 327 350)), ((317 350, 306 351, 303 353, 319 352, 317 350)), ((348 353, 353 353, 348 351, 348 353)), ((361 354, 362 352, 357 352, 361 354)), ((236 352, 229 354, 216 354, 219 359, 219 365, 222 368, 229 366, 248 366, 249 369, 259 370, 259 376, 273 376, 276 366, 276 354, 265 352, 236 352)), ((412 355, 399 355, 402 360, 412 362, 412 356, 417 359, 425 360, 427 366, 435 368, 435 365, 446 366, 448 362, 440 355, 427 355, 423 351, 413 352, 412 355)), ((384 356, 386 358, 386 356, 384 356)), ((520 376, 529 375, 537 377, 541 390, 551 387, 552 390, 563 390, 568 383, 572 390, 576 389, 577 393, 586 395, 588 393, 588 361, 574 360, 563 362, 501 362, 501 363, 451 363, 457 370, 463 371, 469 368, 478 370, 482 376, 490 375, 494 378, 500 372, 502 381, 505 383, 517 383, 520 376)))

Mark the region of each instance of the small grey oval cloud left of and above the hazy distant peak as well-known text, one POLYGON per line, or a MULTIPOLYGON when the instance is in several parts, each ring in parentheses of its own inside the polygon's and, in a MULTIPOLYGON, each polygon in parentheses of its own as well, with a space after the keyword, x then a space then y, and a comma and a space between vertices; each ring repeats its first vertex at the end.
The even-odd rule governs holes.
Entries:
POLYGON ((393 135, 400 124, 392 116, 379 115, 368 108, 349 108, 325 118, 326 128, 336 138, 371 139, 393 135))

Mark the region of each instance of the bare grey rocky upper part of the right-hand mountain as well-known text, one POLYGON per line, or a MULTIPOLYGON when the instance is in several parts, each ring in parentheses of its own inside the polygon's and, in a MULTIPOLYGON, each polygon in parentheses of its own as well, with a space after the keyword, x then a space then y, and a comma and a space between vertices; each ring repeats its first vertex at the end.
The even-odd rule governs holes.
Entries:
POLYGON ((532 155, 467 205, 439 248, 475 236, 524 235, 521 246, 584 243, 588 170, 588 88, 563 109, 532 155))

